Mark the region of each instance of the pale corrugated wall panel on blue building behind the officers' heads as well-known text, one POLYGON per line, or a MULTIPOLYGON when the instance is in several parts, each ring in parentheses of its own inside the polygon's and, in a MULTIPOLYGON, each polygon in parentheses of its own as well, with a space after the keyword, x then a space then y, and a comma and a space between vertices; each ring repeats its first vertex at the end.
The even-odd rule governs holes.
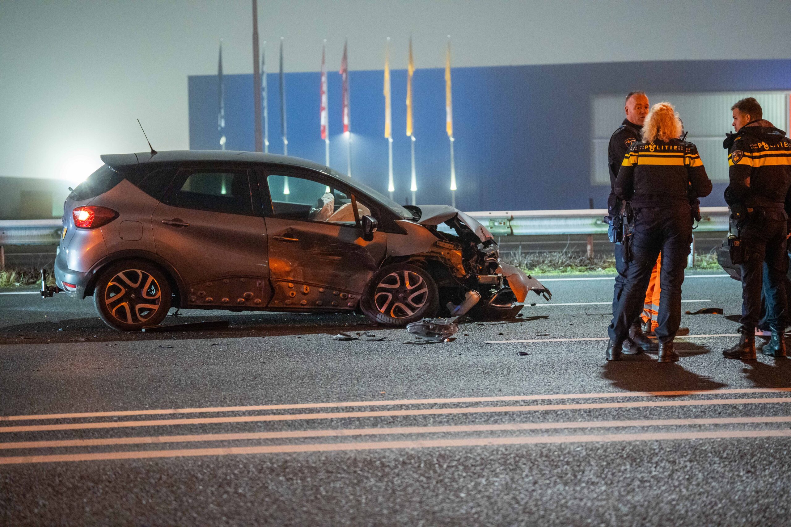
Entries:
MULTIPOLYGON (((709 177, 719 183, 728 182, 728 159, 722 140, 726 131, 733 130, 730 108, 744 97, 755 97, 763 108, 764 119, 789 130, 789 92, 649 93, 652 104, 666 100, 676 107, 689 132, 687 141, 698 146, 709 177)), ((609 185, 607 142, 623 121, 623 96, 594 96, 591 108, 591 183, 609 185)))

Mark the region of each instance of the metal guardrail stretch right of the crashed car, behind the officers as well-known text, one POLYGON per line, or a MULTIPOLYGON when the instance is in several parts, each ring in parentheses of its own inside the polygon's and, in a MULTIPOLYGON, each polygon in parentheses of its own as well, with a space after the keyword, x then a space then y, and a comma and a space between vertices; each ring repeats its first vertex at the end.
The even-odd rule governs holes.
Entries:
MULTIPOLYGON (((701 207, 702 220, 694 232, 728 230, 728 207, 701 207)), ((515 210, 467 213, 493 235, 607 234, 607 209, 515 210)))

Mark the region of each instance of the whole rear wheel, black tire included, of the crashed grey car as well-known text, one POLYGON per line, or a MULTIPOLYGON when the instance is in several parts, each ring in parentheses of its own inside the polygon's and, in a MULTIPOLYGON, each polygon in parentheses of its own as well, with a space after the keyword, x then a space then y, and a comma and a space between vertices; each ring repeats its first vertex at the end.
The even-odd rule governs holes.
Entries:
POLYGON ((168 278, 156 265, 127 260, 113 263, 100 274, 93 304, 112 329, 140 331, 165 320, 171 295, 168 278))

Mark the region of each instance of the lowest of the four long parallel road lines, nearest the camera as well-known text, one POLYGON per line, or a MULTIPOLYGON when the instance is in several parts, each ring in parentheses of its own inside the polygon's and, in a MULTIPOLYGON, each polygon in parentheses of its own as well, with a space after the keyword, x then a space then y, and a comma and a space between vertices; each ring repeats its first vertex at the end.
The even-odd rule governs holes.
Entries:
POLYGON ((407 448, 451 448, 458 446, 547 445, 576 442, 664 441, 672 439, 787 438, 791 430, 721 430, 706 432, 660 432, 603 435, 539 435, 509 438, 432 439, 414 441, 374 441, 313 443, 307 445, 229 446, 184 450, 142 450, 99 454, 51 454, 44 456, 0 457, 0 465, 51 463, 58 461, 97 461, 108 459, 150 459, 154 457, 227 456, 241 454, 285 454, 293 452, 337 452, 343 450, 398 450, 407 448))

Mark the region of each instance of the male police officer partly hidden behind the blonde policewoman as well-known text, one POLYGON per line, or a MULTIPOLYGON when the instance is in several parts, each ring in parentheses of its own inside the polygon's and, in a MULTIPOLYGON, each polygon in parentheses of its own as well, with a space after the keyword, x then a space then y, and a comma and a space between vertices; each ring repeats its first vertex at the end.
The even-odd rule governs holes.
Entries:
MULTIPOLYGON (((626 112, 626 119, 623 119, 621 126, 615 129, 610 137, 610 144, 607 146, 607 165, 610 169, 610 187, 615 186, 615 178, 618 177, 618 171, 623 163, 623 156, 629 151, 631 145, 636 141, 640 141, 642 134, 642 125, 645 122, 645 116, 648 115, 649 101, 645 92, 629 92, 626 95, 626 103, 623 110, 626 112)), ((610 196, 607 198, 607 211, 609 218, 615 217, 620 213, 621 200, 615 196, 613 190, 610 191, 610 196)), ((624 247, 620 243, 615 243, 615 270, 618 274, 615 276, 615 289, 612 295, 612 312, 618 307, 621 294, 623 292, 623 284, 626 281, 626 257, 624 254, 624 247)), ((655 351, 657 344, 653 343, 642 332, 640 327, 639 315, 635 319, 634 324, 629 329, 629 338, 624 342, 623 349, 625 352, 641 352, 641 351, 655 351)))

